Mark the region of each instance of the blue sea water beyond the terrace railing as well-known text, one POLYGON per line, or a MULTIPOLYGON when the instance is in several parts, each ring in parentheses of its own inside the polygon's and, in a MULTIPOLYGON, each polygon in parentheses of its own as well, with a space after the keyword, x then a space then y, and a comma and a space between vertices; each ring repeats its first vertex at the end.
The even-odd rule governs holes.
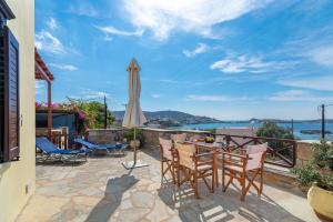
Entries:
MULTIPOLYGON (((283 127, 285 129, 291 129, 291 123, 278 123, 278 125, 283 127)), ((228 128, 260 128, 260 123, 250 124, 250 123, 204 123, 204 124, 185 124, 182 127, 173 128, 173 129, 182 129, 182 130, 208 130, 208 129, 228 129, 228 128)), ((310 122, 295 122, 294 123, 294 137, 297 140, 320 140, 321 134, 303 134, 302 130, 321 130, 321 123, 310 123, 310 122)), ((326 123, 325 130, 333 132, 333 123, 326 123)), ((333 134, 326 134, 325 139, 329 141, 333 141, 333 134)))

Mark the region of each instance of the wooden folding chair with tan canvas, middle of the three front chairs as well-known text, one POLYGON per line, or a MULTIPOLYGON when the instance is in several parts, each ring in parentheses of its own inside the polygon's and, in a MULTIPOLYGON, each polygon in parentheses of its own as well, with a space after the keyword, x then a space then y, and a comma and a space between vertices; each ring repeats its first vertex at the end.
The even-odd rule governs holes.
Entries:
POLYGON ((174 153, 178 186, 180 188, 183 183, 190 182, 195 198, 199 199, 198 181, 202 179, 210 192, 213 193, 215 152, 195 153, 195 145, 175 143, 174 153), (183 178, 181 178, 181 173, 183 178), (209 176, 212 180, 211 184, 208 181, 209 176))

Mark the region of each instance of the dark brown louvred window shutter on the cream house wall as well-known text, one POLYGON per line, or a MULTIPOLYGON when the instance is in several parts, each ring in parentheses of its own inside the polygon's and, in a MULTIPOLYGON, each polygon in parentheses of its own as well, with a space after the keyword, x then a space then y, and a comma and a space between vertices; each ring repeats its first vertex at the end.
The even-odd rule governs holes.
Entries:
POLYGON ((0 0, 0 162, 20 158, 19 43, 7 19, 13 14, 0 0))

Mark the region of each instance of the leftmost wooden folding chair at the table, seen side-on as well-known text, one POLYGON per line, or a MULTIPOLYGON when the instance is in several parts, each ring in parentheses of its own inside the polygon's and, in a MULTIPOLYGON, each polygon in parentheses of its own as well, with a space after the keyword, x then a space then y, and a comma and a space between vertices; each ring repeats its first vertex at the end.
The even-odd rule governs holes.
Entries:
POLYGON ((161 174, 162 181, 165 178, 168 172, 172 175, 172 181, 175 184, 175 175, 174 175, 174 167, 173 167, 173 144, 172 140, 167 140, 163 138, 159 138, 160 141, 160 150, 161 150, 161 174), (167 167, 164 169, 164 165, 167 167))

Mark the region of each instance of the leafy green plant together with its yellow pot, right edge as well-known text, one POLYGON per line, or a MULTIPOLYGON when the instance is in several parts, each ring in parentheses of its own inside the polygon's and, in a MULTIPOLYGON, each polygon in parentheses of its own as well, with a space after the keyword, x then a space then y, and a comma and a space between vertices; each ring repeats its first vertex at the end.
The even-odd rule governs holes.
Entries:
POLYGON ((302 190, 307 190, 307 201, 315 213, 333 220, 333 171, 331 169, 333 145, 326 141, 312 144, 312 160, 295 169, 302 190))

